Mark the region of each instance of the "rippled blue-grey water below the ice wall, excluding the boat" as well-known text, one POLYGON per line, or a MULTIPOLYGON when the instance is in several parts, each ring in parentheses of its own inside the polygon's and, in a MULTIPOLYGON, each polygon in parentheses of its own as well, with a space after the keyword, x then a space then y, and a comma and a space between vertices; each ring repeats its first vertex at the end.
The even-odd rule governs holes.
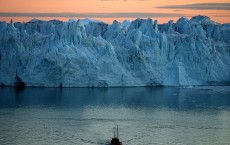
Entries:
POLYGON ((230 90, 0 88, 0 144, 229 144, 230 90))

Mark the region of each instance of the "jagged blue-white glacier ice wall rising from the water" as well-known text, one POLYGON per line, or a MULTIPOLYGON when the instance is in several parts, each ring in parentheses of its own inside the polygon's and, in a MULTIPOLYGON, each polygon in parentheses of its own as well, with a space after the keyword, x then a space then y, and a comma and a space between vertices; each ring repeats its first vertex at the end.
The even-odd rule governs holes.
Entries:
POLYGON ((0 83, 47 87, 229 85, 230 24, 206 16, 0 22, 0 83))

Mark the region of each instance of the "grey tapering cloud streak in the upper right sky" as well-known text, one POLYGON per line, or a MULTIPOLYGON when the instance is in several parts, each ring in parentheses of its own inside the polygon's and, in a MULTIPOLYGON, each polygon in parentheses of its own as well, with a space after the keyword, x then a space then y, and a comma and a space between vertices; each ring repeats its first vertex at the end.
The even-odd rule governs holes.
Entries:
POLYGON ((187 5, 159 6, 157 8, 191 10, 230 10, 230 3, 196 3, 187 5))

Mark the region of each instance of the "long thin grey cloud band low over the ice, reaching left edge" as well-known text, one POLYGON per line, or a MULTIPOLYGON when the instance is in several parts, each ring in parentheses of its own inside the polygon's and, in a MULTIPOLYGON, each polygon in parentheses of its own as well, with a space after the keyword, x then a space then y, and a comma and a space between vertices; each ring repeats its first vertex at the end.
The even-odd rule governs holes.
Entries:
POLYGON ((2 17, 79 17, 79 18, 147 18, 147 17, 185 17, 174 13, 4 13, 2 17))

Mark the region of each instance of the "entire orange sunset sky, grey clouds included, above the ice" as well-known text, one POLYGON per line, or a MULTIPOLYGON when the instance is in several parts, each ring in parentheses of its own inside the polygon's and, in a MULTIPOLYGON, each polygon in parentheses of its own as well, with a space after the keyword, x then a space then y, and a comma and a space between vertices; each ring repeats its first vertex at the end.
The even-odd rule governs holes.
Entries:
POLYGON ((0 21, 93 18, 112 23, 152 18, 159 23, 206 15, 230 23, 230 0, 0 0, 0 21))

